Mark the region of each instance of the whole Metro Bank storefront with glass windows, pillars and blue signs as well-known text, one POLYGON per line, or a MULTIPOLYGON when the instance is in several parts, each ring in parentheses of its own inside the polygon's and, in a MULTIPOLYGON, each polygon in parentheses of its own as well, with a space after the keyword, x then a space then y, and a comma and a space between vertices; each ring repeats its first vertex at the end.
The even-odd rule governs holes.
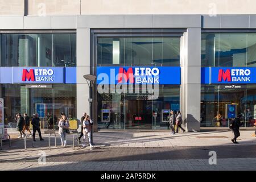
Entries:
POLYGON ((56 121, 60 112, 71 118, 86 112, 95 121, 95 131, 167 129, 162 111, 180 110, 187 131, 216 126, 217 113, 222 127, 238 113, 251 127, 256 114, 254 19, 22 16, 23 25, 2 24, 0 81, 6 125, 13 127, 9 123, 19 112, 42 112, 42 118, 50 114, 56 121), (52 72, 55 78, 48 78, 52 72), (91 104, 83 77, 88 74, 97 77, 91 104), (39 84, 47 86, 35 88, 39 84), (109 122, 104 112, 109 112, 109 122))

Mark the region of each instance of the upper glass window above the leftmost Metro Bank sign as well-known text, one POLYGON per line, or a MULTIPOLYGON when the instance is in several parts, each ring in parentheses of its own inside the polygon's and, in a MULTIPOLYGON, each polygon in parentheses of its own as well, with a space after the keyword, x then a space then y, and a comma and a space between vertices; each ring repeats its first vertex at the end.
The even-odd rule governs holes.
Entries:
POLYGON ((2 67, 75 67, 76 34, 0 34, 2 67))

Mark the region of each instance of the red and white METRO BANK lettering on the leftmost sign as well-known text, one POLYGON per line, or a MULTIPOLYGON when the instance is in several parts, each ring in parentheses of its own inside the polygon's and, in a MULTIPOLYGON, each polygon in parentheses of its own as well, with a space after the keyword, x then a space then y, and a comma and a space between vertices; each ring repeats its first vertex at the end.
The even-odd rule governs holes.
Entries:
POLYGON ((23 69, 22 81, 38 81, 38 82, 52 82, 52 69, 23 69))

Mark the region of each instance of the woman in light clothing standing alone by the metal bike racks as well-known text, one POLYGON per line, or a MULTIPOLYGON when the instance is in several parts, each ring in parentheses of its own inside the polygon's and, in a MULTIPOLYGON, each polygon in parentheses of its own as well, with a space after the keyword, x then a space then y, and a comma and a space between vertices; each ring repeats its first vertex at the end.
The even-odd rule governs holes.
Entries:
POLYGON ((68 118, 63 115, 59 121, 59 134, 61 139, 61 146, 67 145, 67 136, 69 134, 69 121, 68 118))

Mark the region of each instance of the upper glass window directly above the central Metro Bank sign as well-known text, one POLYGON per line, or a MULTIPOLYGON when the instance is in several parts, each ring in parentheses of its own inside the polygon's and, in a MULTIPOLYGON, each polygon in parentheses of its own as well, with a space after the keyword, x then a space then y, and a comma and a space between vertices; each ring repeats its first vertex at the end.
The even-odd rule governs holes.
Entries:
POLYGON ((180 38, 97 38, 98 65, 180 65, 180 38))

